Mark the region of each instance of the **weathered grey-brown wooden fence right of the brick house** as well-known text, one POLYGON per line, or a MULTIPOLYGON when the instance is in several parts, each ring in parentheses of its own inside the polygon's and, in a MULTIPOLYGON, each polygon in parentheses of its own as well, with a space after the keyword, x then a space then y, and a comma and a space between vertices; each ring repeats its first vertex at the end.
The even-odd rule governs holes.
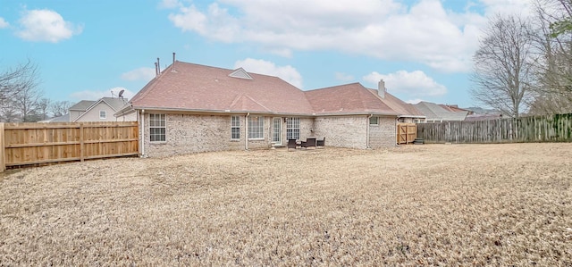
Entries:
POLYGON ((417 124, 426 143, 572 142, 572 113, 417 124))

